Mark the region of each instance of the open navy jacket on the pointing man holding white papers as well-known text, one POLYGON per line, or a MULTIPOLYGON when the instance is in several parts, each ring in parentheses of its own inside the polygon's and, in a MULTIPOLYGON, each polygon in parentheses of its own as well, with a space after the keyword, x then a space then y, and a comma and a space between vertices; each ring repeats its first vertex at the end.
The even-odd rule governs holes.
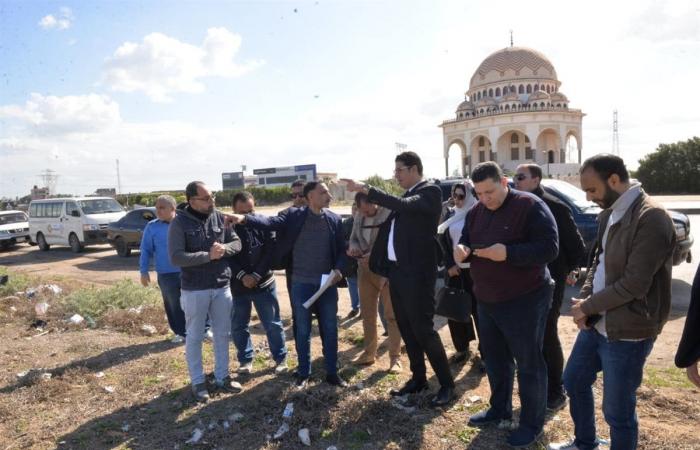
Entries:
MULTIPOLYGON (((328 229, 330 230, 333 268, 345 273, 348 261, 345 255, 347 244, 343 234, 342 220, 334 212, 328 209, 324 211, 328 229)), ((276 232, 277 243, 272 257, 273 268, 282 268, 284 267, 284 261, 290 260, 288 258, 291 257, 294 243, 299 237, 299 233, 301 233, 307 214, 309 214, 309 208, 308 206, 303 206, 301 208, 288 208, 278 216, 246 215, 246 225, 252 228, 276 232)))

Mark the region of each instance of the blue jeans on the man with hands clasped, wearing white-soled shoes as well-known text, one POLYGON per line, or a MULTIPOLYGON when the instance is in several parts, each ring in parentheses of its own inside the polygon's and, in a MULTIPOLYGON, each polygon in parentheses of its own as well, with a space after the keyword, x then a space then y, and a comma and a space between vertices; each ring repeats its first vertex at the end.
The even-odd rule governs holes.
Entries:
POLYGON ((284 343, 284 327, 280 319, 280 305, 277 302, 275 283, 260 291, 233 294, 233 314, 231 317, 231 337, 238 350, 238 362, 253 361, 253 340, 250 338, 250 311, 255 305, 262 322, 272 359, 279 363, 287 357, 284 343))

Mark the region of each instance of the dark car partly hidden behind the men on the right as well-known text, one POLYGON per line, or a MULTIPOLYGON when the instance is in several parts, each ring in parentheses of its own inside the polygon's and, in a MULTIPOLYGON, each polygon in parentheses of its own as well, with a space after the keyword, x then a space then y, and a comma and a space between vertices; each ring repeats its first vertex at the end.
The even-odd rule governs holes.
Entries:
MULTIPOLYGON (((447 200, 450 189, 455 183, 463 183, 462 179, 440 180, 442 198, 447 200)), ((513 187, 513 183, 509 182, 513 187)), ((586 259, 581 261, 581 267, 588 267, 592 256, 591 250, 595 245, 598 232, 598 214, 601 209, 593 202, 586 199, 586 193, 571 183, 562 180, 543 179, 542 186, 550 194, 564 202, 569 209, 586 244, 586 259)), ((677 266, 683 261, 690 262, 692 255, 690 248, 693 245, 693 236, 690 234, 690 220, 685 214, 677 211, 669 211, 673 225, 676 228, 676 248, 673 251, 673 265, 677 266)))

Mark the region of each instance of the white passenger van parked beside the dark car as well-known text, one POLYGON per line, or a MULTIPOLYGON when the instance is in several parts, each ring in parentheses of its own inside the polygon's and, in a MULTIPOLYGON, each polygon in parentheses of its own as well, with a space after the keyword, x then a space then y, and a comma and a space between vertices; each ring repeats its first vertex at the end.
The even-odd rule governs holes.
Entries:
POLYGON ((52 244, 69 245, 73 252, 107 243, 107 226, 126 212, 111 197, 34 200, 29 204, 29 235, 46 251, 52 244))

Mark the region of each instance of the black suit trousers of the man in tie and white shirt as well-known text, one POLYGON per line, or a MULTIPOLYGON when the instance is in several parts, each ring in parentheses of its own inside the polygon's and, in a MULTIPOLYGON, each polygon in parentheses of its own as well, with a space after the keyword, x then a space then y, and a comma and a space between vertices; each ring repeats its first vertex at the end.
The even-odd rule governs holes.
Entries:
POLYGON ((394 315, 406 344, 413 379, 426 380, 425 356, 441 386, 454 386, 440 335, 433 328, 435 271, 408 273, 397 266, 389 271, 389 289, 394 315), (424 356, 425 355, 425 356, 424 356))

